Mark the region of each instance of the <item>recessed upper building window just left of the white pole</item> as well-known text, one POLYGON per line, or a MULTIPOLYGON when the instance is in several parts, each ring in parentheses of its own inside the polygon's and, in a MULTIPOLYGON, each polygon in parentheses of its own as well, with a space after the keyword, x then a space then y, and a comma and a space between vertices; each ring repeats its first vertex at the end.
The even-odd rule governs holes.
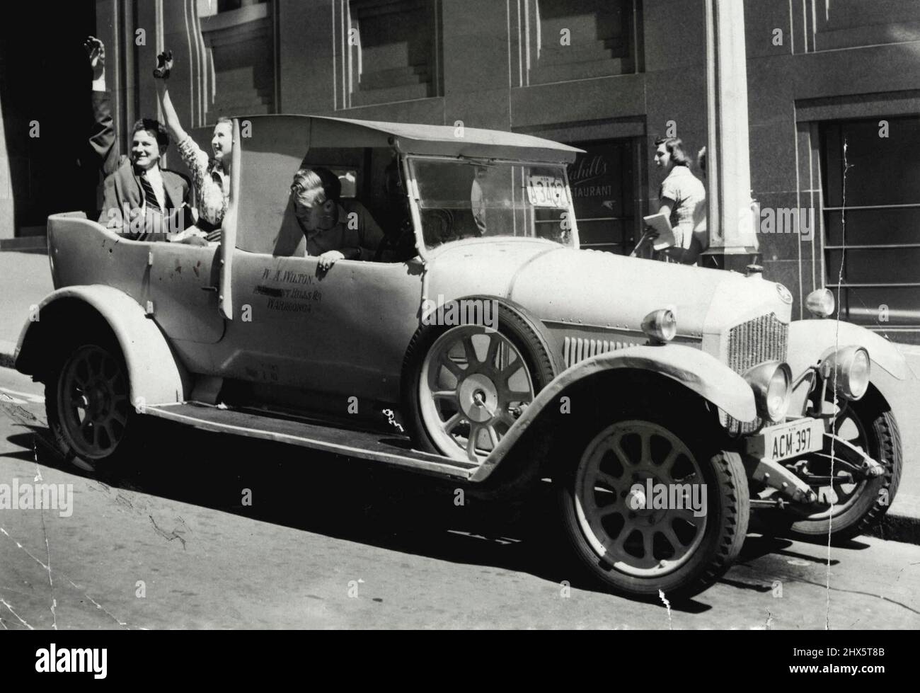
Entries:
POLYGON ((639 71, 640 0, 517 0, 519 86, 639 71))

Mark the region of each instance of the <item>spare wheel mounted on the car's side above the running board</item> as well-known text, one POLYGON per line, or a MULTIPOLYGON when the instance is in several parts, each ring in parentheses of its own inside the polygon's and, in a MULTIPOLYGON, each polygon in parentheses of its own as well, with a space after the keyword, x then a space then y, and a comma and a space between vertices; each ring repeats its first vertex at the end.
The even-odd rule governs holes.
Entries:
POLYGON ((496 329, 429 325, 410 344, 405 406, 421 447, 481 461, 555 377, 534 322, 509 306, 497 311, 496 329))

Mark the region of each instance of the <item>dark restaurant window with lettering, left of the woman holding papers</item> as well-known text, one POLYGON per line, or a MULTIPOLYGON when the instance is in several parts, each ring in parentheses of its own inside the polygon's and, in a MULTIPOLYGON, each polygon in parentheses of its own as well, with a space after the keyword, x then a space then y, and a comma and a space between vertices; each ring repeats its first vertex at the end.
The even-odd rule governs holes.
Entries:
POLYGON ((636 245, 641 219, 635 194, 638 142, 624 139, 569 144, 586 152, 569 165, 581 248, 628 255, 636 245))

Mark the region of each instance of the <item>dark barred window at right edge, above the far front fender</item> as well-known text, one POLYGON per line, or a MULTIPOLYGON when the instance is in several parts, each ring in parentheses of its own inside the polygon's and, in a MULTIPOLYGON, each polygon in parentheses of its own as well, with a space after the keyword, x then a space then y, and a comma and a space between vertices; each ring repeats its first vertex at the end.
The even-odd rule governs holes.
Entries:
POLYGON ((846 320, 920 329, 920 121, 880 120, 821 125, 826 285, 846 320))

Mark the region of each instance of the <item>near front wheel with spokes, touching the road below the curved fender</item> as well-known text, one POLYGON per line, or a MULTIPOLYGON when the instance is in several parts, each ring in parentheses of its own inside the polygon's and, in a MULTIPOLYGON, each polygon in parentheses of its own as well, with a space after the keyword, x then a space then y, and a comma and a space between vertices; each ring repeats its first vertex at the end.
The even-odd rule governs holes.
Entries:
POLYGON ((712 449, 705 427, 678 419, 624 414, 599 423, 555 479, 569 543, 616 594, 696 595, 741 552, 750 513, 741 457, 712 449))

